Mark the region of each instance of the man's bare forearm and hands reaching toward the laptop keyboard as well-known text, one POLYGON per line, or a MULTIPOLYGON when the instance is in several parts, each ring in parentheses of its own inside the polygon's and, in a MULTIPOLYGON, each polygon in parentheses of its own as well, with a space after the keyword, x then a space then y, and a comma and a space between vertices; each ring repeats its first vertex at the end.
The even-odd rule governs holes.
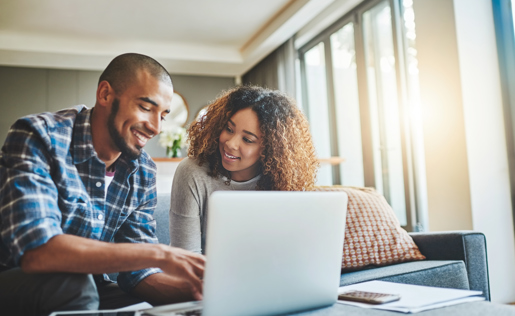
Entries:
POLYGON ((204 263, 202 255, 162 244, 112 244, 66 234, 54 236, 21 258, 21 267, 28 273, 100 274, 160 268, 164 273, 145 278, 133 290, 154 303, 202 299, 204 263))

